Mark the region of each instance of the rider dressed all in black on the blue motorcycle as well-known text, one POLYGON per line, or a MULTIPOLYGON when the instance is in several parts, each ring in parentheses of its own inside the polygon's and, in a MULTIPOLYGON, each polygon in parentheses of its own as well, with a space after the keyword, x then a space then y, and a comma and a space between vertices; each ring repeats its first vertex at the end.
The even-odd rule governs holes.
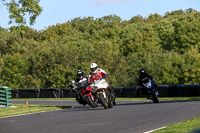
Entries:
MULTIPOLYGON (((145 79, 145 78, 149 78, 150 80, 152 80, 152 81, 154 81, 154 79, 153 79, 153 76, 151 76, 150 74, 148 74, 147 72, 146 72, 146 70, 145 69, 140 69, 140 76, 139 76, 139 78, 138 78, 138 84, 140 85, 140 86, 143 86, 143 79, 145 79)), ((155 83, 155 87, 157 88, 157 84, 155 83)), ((146 95, 147 96, 147 99, 148 99, 148 93, 144 90, 144 88, 142 89, 142 92, 143 92, 143 94, 144 95, 146 95)))

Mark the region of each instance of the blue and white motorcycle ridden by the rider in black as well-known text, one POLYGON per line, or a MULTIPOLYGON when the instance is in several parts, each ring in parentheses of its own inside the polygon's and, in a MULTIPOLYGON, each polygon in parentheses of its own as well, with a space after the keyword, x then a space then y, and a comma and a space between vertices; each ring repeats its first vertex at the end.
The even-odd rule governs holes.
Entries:
POLYGON ((159 103, 158 100, 158 90, 156 89, 155 83, 149 79, 149 78, 144 78, 142 80, 143 87, 145 91, 147 91, 147 98, 151 99, 154 103, 159 103))

